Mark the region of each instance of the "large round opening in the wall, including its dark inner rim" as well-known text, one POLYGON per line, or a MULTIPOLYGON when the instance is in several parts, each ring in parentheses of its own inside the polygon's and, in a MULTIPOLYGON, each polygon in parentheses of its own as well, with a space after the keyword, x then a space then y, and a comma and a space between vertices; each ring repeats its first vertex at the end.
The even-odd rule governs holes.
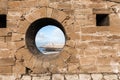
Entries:
POLYGON ((26 32, 26 45, 36 55, 60 53, 66 42, 64 27, 57 20, 42 18, 34 21, 26 32))

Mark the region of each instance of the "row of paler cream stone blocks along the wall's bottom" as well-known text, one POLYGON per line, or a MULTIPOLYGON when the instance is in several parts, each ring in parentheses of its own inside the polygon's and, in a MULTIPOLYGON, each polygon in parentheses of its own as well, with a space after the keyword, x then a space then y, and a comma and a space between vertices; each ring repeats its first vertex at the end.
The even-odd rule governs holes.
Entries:
POLYGON ((119 74, 31 74, 16 77, 0 75, 1 80, 120 80, 119 74))

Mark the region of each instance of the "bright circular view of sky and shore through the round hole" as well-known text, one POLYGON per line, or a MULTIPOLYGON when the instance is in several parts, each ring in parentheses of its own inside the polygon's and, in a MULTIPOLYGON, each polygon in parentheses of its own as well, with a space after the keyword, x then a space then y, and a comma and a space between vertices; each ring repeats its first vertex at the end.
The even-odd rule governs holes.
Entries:
POLYGON ((65 35, 57 26, 47 25, 38 30, 35 44, 43 54, 57 54, 62 51, 65 45, 65 35))

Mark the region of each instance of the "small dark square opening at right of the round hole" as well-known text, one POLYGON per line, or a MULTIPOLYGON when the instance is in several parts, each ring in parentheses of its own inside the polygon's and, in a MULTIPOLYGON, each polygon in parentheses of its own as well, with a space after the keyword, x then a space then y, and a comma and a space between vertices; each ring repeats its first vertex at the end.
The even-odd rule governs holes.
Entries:
POLYGON ((109 14, 96 14, 96 25, 97 26, 109 26, 109 14))

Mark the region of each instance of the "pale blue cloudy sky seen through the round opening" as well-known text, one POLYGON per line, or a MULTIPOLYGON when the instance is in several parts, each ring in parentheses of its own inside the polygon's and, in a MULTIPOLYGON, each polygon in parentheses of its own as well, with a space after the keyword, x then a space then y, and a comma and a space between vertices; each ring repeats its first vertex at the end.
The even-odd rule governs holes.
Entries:
POLYGON ((44 46, 46 44, 65 44, 64 33, 56 26, 48 25, 41 28, 35 37, 35 43, 37 47, 44 46))

